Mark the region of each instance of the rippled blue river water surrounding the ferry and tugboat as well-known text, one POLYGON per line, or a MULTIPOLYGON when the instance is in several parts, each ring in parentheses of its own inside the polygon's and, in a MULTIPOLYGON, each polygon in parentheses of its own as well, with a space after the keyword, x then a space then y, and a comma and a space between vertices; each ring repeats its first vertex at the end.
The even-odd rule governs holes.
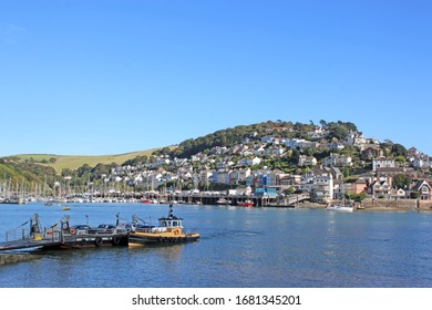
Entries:
MULTIPOLYGON (((0 205, 0 232, 33 214, 42 226, 152 224, 167 205, 0 205)), ((429 288, 432 213, 245 208, 176 205, 174 214, 202 238, 165 247, 94 248, 39 254, 0 266, 2 288, 429 288)), ((27 227, 25 227, 27 228, 27 227)), ((3 235, 2 235, 3 236, 3 235)))

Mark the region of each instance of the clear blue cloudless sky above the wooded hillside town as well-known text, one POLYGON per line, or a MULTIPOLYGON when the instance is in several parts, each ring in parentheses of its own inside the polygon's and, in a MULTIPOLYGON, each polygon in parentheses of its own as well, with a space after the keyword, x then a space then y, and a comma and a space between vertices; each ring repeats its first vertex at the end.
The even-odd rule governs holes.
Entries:
POLYGON ((0 156, 100 155, 265 121, 432 155, 432 1, 2 0, 0 156))

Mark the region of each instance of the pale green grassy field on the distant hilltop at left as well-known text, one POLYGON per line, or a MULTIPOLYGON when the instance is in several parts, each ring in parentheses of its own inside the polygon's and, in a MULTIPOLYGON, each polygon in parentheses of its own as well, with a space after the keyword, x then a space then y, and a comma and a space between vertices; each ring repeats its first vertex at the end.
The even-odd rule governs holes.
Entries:
POLYGON ((58 173, 61 173, 62 169, 76 169, 84 164, 88 164, 91 167, 96 166, 97 164, 111 164, 115 163, 117 165, 123 164, 128 159, 133 159, 136 156, 151 156, 154 151, 158 148, 132 152, 119 155, 101 155, 101 156, 86 156, 86 155, 54 155, 54 154, 22 154, 16 155, 20 157, 21 161, 33 158, 35 162, 40 163, 43 159, 50 161, 50 158, 55 158, 55 163, 43 164, 50 167, 53 167, 58 173))

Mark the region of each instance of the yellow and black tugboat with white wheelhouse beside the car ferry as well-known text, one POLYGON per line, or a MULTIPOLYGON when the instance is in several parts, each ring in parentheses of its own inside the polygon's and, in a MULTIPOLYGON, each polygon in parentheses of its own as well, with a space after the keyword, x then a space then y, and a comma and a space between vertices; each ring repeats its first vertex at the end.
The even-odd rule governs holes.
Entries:
POLYGON ((173 205, 169 205, 168 216, 158 219, 158 226, 138 225, 138 219, 137 216, 132 218, 130 246, 181 244, 196 241, 199 238, 199 234, 194 230, 185 231, 183 218, 173 215, 173 205))

